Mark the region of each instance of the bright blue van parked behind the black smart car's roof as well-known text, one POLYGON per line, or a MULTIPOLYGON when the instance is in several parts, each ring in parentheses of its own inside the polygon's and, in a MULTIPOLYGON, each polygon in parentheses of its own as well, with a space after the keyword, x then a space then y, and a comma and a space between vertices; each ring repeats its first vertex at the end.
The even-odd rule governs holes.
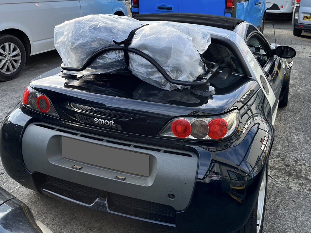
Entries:
POLYGON ((132 16, 147 13, 200 13, 243 19, 264 29, 266 0, 132 0, 132 16))

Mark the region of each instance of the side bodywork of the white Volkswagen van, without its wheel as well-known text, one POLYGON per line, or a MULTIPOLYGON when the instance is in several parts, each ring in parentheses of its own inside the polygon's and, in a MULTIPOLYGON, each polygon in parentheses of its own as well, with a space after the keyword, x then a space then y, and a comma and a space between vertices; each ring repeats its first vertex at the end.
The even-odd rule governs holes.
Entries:
POLYGON ((127 15, 124 1, 2 1, 0 3, 0 34, 3 30, 8 29, 22 31, 30 41, 30 55, 35 55, 55 49, 54 27, 56 25, 81 17, 81 12, 82 16, 86 16, 103 13, 113 14, 116 11, 122 11, 124 15, 127 15), (16 17, 12 18, 12 15, 16 17))

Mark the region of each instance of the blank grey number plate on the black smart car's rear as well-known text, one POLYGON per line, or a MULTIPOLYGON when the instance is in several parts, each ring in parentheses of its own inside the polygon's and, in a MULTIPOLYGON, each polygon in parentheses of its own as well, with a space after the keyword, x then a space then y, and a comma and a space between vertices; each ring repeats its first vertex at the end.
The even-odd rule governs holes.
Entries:
POLYGON ((147 154, 62 137, 62 156, 118 171, 149 176, 147 154))

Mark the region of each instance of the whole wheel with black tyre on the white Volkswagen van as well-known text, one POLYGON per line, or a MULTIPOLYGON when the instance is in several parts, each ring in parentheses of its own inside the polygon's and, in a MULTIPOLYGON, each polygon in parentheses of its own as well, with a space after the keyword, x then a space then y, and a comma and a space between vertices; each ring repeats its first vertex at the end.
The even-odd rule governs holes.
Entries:
POLYGON ((0 81, 12 80, 25 66, 26 50, 21 41, 12 35, 0 35, 0 81))

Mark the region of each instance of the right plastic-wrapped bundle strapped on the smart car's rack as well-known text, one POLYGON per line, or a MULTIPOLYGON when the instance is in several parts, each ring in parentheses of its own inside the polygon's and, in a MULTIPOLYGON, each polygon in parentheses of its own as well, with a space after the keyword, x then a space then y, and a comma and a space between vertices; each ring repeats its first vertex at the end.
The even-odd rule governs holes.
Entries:
MULTIPOLYGON (((193 81, 206 72, 198 50, 204 52, 211 43, 208 33, 205 38, 204 32, 199 34, 199 38, 196 31, 199 29, 187 24, 158 22, 139 29, 129 47, 152 57, 171 78, 193 81)), ((141 80, 165 90, 184 87, 169 83, 150 62, 136 54, 130 53, 129 69, 141 80)))

